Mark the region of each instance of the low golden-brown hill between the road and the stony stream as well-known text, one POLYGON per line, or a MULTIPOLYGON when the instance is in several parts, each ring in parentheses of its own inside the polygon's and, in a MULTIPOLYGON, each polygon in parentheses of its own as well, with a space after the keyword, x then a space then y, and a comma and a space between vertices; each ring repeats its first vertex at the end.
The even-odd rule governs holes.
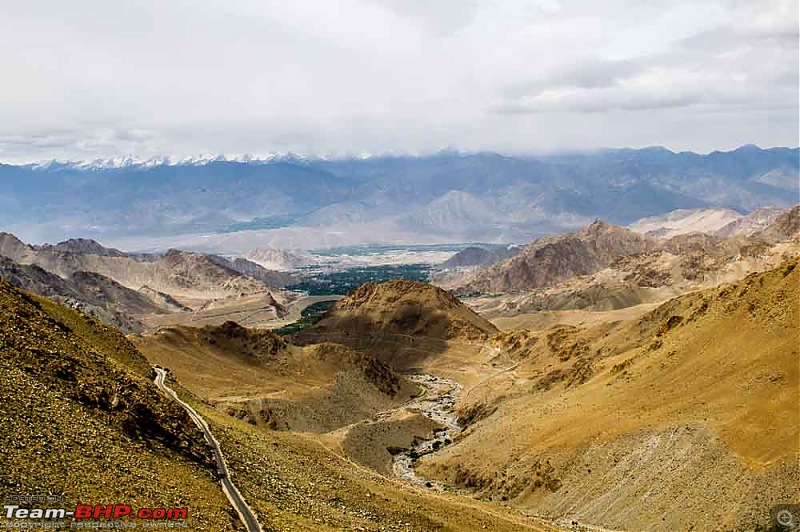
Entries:
POLYGON ((219 408, 270 429, 327 432, 406 401, 415 387, 341 345, 305 348, 234 322, 134 339, 153 363, 219 408))

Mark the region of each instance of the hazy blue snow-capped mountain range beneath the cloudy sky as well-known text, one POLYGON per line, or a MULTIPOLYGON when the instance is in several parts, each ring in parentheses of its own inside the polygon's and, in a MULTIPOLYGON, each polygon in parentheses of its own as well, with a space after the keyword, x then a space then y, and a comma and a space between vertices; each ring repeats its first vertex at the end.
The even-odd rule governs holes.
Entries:
POLYGON ((123 249, 521 243, 676 209, 745 214, 797 202, 797 148, 665 148, 546 157, 203 158, 0 165, 0 228, 123 249))

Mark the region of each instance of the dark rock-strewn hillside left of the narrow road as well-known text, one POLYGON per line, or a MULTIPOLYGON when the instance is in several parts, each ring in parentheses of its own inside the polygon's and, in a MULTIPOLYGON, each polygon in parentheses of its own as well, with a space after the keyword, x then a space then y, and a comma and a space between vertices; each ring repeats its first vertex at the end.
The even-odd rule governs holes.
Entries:
POLYGON ((7 493, 64 494, 68 506, 191 500, 190 526, 233 529, 202 433, 113 328, 0 280, 0 380, 7 493))

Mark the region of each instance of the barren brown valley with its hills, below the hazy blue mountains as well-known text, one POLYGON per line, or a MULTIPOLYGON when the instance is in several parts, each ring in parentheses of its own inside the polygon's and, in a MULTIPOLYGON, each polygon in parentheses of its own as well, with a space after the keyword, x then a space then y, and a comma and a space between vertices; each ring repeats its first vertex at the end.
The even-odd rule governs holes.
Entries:
POLYGON ((337 270, 0 235, 2 420, 63 419, 4 436, 4 485, 241 529, 155 366, 265 530, 739 530, 800 498, 800 206, 457 250, 337 270), (52 477, 80 454, 60 434, 100 445, 106 473, 52 477), (144 487, 154 468, 168 489, 144 487))

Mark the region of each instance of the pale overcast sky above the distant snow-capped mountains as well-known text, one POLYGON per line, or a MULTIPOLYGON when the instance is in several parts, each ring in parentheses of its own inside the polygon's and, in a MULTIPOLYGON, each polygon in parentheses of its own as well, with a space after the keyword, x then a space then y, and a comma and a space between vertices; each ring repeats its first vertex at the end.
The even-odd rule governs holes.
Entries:
POLYGON ((0 2, 0 160, 798 144, 796 0, 0 2))

